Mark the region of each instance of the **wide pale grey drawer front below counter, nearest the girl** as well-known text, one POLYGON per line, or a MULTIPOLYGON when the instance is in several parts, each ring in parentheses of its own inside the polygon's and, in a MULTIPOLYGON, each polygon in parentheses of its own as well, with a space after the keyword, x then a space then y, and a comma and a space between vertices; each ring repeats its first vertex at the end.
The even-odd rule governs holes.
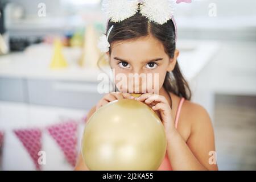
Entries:
POLYGON ((27 84, 31 104, 88 110, 102 97, 97 82, 28 80, 27 84))

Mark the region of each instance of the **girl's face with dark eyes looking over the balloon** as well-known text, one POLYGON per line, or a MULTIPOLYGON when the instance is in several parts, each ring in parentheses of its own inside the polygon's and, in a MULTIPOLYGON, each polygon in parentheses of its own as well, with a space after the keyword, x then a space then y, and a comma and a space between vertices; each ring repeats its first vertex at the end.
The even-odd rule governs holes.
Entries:
POLYGON ((167 71, 174 69, 179 55, 176 50, 174 58, 170 59, 163 44, 151 35, 114 42, 111 49, 110 66, 115 85, 120 92, 128 93, 159 92, 167 71), (136 74, 139 75, 137 82, 136 74))

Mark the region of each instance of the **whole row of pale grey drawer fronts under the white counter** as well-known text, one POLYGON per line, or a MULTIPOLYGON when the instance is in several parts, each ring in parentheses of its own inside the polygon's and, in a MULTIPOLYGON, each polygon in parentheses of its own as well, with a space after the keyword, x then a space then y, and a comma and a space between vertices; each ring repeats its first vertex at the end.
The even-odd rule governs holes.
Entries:
POLYGON ((97 82, 0 77, 0 100, 89 110, 102 97, 97 82))

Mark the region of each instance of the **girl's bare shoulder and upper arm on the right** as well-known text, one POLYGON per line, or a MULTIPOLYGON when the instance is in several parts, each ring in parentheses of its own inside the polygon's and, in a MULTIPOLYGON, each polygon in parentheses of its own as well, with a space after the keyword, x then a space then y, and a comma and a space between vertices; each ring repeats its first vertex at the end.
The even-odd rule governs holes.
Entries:
POLYGON ((189 131, 189 134, 185 135, 189 149, 206 169, 217 170, 217 164, 209 162, 209 159, 215 161, 216 149, 212 121, 208 111, 203 106, 191 101, 185 101, 183 109, 181 122, 183 122, 183 129, 189 131), (186 126, 186 123, 190 124, 189 127, 186 126), (209 158, 209 155, 212 158, 209 158))

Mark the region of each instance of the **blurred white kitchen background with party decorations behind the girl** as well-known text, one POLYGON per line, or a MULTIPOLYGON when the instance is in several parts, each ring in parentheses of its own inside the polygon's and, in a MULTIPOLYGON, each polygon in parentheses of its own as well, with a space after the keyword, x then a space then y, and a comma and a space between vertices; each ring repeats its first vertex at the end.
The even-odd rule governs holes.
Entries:
MULTIPOLYGON (((102 97, 100 3, 0 1, 1 170, 73 169, 86 113, 102 97)), ((192 0, 175 13, 181 70, 212 118, 220 170, 256 169, 255 7, 192 0)))

